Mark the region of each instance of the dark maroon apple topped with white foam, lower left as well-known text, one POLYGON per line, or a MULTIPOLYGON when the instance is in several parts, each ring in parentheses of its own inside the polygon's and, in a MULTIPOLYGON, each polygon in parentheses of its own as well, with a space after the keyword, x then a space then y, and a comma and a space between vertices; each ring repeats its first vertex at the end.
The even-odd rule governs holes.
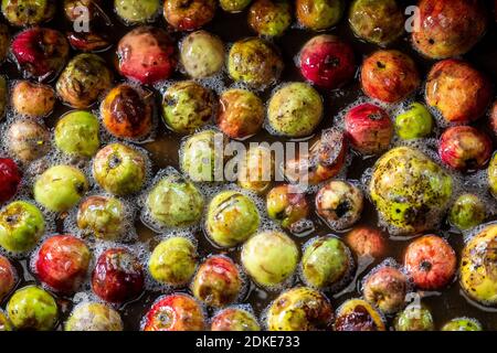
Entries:
POLYGON ((92 275, 93 291, 108 302, 136 299, 144 290, 144 282, 141 264, 125 248, 104 252, 92 275))

